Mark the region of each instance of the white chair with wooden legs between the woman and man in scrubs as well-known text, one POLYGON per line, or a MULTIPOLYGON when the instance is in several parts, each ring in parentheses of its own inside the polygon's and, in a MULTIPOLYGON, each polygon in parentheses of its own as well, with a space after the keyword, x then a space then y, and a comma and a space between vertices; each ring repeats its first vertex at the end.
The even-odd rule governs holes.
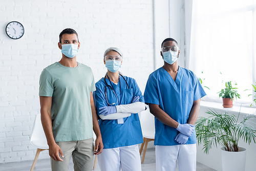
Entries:
POLYGON ((150 109, 148 108, 148 106, 145 111, 142 111, 140 113, 140 124, 143 135, 143 143, 141 144, 140 147, 140 155, 143 146, 145 145, 141 160, 141 163, 143 163, 146 155, 147 143, 155 140, 155 116, 150 113, 150 109))

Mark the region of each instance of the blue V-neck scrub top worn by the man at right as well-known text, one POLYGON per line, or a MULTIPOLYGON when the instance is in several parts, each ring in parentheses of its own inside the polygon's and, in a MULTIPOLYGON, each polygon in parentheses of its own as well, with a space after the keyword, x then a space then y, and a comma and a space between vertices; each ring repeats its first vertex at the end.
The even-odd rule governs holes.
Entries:
MULTIPOLYGON (((196 75, 179 67, 176 81, 162 67, 154 71, 147 80, 144 92, 145 103, 158 104, 160 108, 178 123, 187 123, 193 102, 205 96, 196 75)), ((179 145, 175 137, 179 132, 155 118, 154 145, 179 145)), ((197 143, 196 131, 186 144, 197 143)))

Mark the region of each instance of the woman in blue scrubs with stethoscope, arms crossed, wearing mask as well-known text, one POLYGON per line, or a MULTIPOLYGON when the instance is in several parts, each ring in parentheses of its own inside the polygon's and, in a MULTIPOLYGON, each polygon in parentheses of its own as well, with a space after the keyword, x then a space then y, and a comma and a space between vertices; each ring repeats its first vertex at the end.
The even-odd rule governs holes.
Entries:
POLYGON ((135 79, 118 72, 122 59, 118 48, 105 51, 108 73, 96 82, 93 94, 104 145, 98 155, 101 171, 141 171, 138 144, 143 137, 138 112, 145 110, 145 103, 135 79))

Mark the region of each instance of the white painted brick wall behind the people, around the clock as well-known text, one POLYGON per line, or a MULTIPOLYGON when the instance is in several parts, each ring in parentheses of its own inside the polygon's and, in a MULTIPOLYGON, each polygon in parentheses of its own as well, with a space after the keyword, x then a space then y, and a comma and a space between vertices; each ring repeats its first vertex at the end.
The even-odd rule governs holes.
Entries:
MULTIPOLYGON (((118 47, 124 55, 120 71, 133 77, 144 92, 153 72, 153 0, 0 0, 0 163, 33 160, 29 139, 39 113, 38 81, 45 67, 60 60, 58 35, 73 28, 81 47, 77 60, 90 66, 95 80, 106 68, 103 53, 118 47), (74 3, 75 2, 75 3, 74 3), (6 25, 25 27, 13 40, 6 25)), ((48 151, 39 159, 49 158, 48 151)))

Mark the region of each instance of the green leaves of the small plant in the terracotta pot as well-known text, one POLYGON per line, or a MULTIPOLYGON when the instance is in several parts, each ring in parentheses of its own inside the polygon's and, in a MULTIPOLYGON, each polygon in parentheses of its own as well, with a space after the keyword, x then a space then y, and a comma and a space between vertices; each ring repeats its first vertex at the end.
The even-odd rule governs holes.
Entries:
MULTIPOLYGON (((235 83, 235 85, 237 85, 237 83, 235 83)), ((237 91, 238 88, 233 88, 232 84, 231 84, 231 81, 226 82, 225 86, 226 86, 225 89, 221 89, 221 91, 218 92, 218 93, 220 93, 219 97, 231 98, 231 100, 234 97, 236 97, 236 99, 240 98, 240 94, 238 94, 238 91, 237 91)))

